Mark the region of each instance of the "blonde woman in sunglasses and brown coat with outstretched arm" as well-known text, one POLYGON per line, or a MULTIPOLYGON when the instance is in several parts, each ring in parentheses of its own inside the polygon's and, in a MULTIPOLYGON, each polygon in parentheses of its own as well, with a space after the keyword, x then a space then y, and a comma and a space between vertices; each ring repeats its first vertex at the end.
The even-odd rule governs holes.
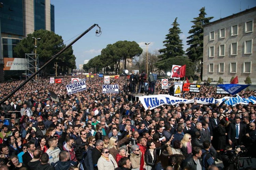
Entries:
POLYGON ((108 149, 109 149, 110 154, 113 155, 115 160, 116 160, 116 155, 118 154, 119 147, 129 141, 129 136, 130 135, 127 135, 119 141, 117 141, 117 139, 115 137, 111 137, 109 139, 108 149))

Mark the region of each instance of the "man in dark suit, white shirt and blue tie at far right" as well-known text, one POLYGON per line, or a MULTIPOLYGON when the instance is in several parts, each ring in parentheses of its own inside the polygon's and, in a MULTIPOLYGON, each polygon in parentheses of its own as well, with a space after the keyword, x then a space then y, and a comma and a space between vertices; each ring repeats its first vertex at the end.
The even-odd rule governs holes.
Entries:
POLYGON ((245 135, 246 131, 245 125, 240 123, 241 118, 239 116, 235 118, 235 121, 235 124, 230 124, 230 129, 228 131, 228 142, 232 148, 242 144, 242 137, 245 135))

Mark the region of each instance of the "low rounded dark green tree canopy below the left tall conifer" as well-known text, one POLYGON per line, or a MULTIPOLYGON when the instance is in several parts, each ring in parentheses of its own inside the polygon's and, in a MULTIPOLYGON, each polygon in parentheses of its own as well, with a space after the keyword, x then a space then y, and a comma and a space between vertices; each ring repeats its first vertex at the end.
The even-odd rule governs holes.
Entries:
POLYGON ((172 65, 183 66, 185 64, 186 64, 186 77, 193 77, 196 66, 187 57, 168 58, 167 60, 157 62, 156 67, 161 68, 162 70, 165 70, 165 72, 168 72, 172 70, 172 65))

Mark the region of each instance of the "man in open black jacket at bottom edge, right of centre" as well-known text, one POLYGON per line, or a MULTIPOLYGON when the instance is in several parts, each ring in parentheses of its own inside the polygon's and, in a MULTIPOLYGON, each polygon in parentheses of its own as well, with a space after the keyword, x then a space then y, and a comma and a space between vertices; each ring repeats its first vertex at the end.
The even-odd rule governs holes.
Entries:
POLYGON ((199 160, 201 155, 202 155, 202 150, 198 147, 193 147, 192 155, 190 155, 185 160, 183 160, 181 167, 183 169, 185 167, 189 167, 190 170, 202 169, 201 161, 199 160))

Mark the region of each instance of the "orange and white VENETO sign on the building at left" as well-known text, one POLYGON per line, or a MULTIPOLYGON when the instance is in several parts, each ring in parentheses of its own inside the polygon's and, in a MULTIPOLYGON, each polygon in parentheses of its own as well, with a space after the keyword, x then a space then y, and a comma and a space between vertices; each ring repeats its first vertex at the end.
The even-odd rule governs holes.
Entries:
POLYGON ((26 70, 26 58, 3 58, 3 70, 26 70))

